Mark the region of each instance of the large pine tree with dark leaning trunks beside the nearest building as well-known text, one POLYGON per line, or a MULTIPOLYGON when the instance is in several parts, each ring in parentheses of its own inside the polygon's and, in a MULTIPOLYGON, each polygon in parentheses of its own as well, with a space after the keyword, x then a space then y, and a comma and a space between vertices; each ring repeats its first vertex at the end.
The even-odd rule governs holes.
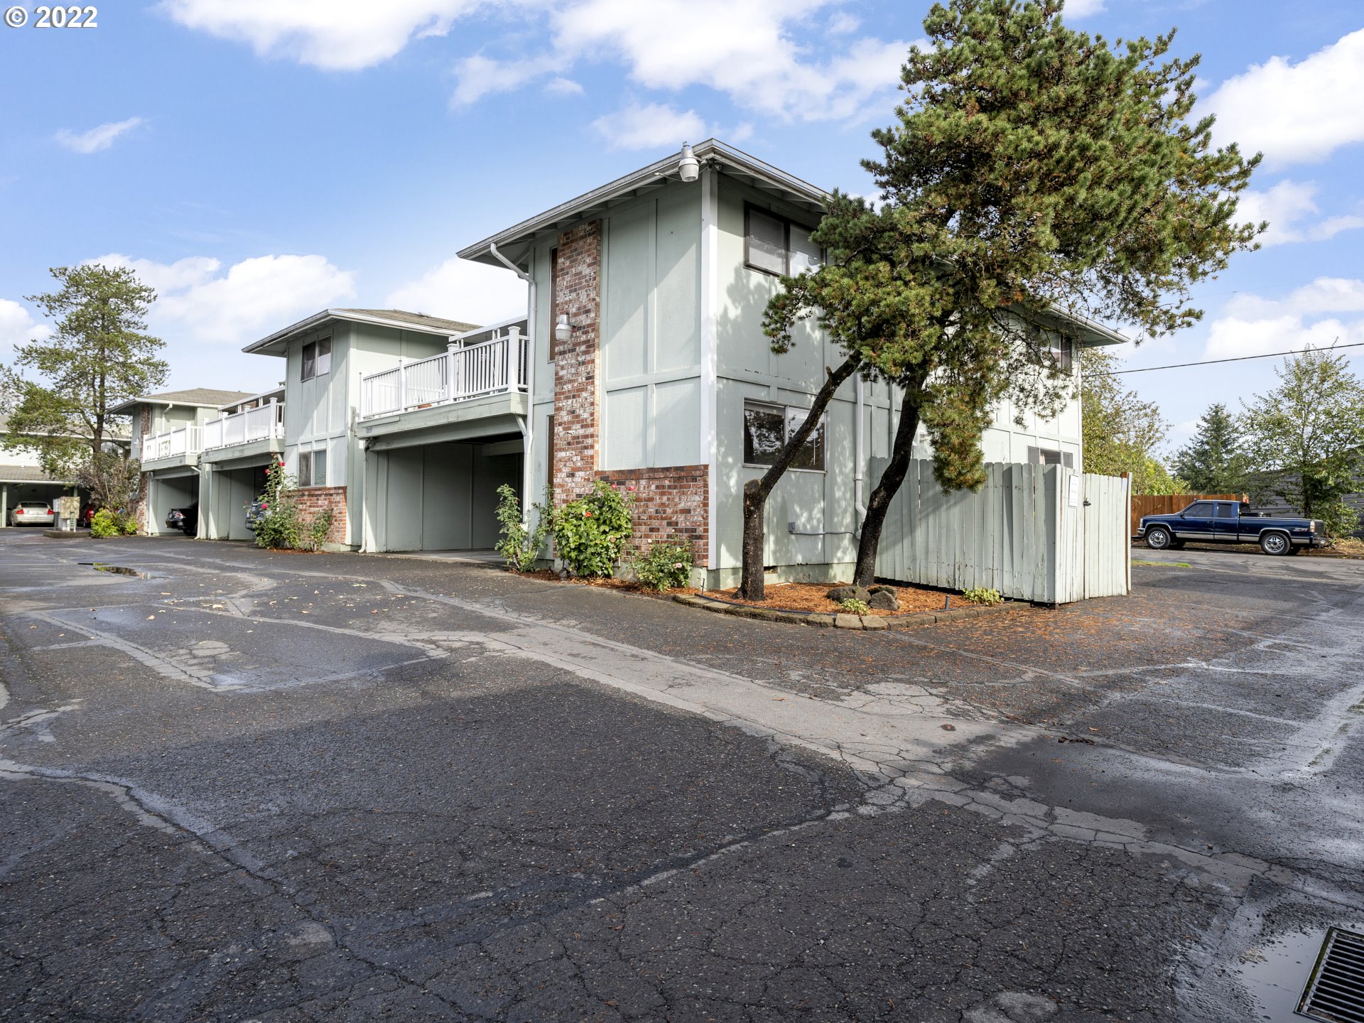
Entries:
MULTIPOLYGON (((874 578, 921 423, 938 483, 979 486, 996 402, 1052 415, 1072 387, 1065 352, 1079 330, 1057 311, 1173 333, 1202 316, 1191 285, 1264 226, 1234 222, 1259 157, 1213 149, 1213 119, 1188 120, 1198 57, 1161 63, 1173 33, 1110 46, 1067 29, 1061 10, 934 4, 930 46, 911 48, 902 70, 896 123, 873 132, 883 157, 863 161, 880 205, 831 203, 814 235, 827 265, 783 278, 768 307, 776 351, 816 315, 861 371, 904 389, 862 524, 859 584, 874 578), (878 323, 895 323, 895 338, 869 342, 878 323)), ((745 496, 745 516, 758 513, 745 496)), ((761 595, 761 543, 743 557, 743 592, 761 595)))

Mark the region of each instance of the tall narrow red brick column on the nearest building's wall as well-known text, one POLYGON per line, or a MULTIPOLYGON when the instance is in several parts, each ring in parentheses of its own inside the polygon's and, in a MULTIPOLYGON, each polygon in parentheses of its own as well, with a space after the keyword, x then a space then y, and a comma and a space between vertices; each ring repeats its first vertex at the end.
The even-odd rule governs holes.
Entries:
POLYGON ((597 336, 602 222, 559 235, 559 277, 550 329, 567 314, 573 337, 554 344, 554 494, 572 501, 592 487, 597 465, 597 336))

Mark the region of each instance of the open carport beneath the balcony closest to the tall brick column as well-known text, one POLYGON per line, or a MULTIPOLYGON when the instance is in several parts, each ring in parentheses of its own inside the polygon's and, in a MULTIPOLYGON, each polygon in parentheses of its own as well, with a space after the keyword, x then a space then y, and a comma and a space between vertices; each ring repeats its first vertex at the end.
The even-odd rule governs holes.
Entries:
POLYGON ((522 451, 520 435, 367 451, 368 550, 490 550, 498 540, 498 487, 521 494, 522 451))

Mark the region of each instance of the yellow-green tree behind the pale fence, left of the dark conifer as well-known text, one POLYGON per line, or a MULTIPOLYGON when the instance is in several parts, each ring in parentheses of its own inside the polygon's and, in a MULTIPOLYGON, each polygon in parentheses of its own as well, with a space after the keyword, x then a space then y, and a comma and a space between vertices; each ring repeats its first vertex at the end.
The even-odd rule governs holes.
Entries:
POLYGON ((1080 428, 1084 471, 1102 476, 1127 473, 1133 494, 1176 494, 1158 449, 1169 424, 1154 401, 1142 401, 1113 374, 1118 359, 1102 348, 1087 348, 1080 359, 1080 428))

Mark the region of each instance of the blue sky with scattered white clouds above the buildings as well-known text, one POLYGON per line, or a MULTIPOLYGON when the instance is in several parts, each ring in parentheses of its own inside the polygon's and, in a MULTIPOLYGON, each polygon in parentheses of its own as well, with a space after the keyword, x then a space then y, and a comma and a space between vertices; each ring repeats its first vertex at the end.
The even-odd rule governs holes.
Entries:
MULTIPOLYGON (((865 192, 929 4, 857 0, 120 0, 90 29, 0 26, 0 360, 42 331, 46 267, 121 259, 161 293, 172 386, 259 390, 243 344, 326 306, 518 311, 454 252, 715 135, 865 192)), ((1262 150, 1264 247, 1132 368, 1364 341, 1357 0, 1072 0, 1112 37, 1178 27, 1218 138, 1262 150)), ((1364 352, 1361 349, 1350 349, 1364 352)), ((1125 378, 1172 443, 1278 360, 1125 378)), ((1364 356, 1353 356, 1364 374, 1364 356)))

